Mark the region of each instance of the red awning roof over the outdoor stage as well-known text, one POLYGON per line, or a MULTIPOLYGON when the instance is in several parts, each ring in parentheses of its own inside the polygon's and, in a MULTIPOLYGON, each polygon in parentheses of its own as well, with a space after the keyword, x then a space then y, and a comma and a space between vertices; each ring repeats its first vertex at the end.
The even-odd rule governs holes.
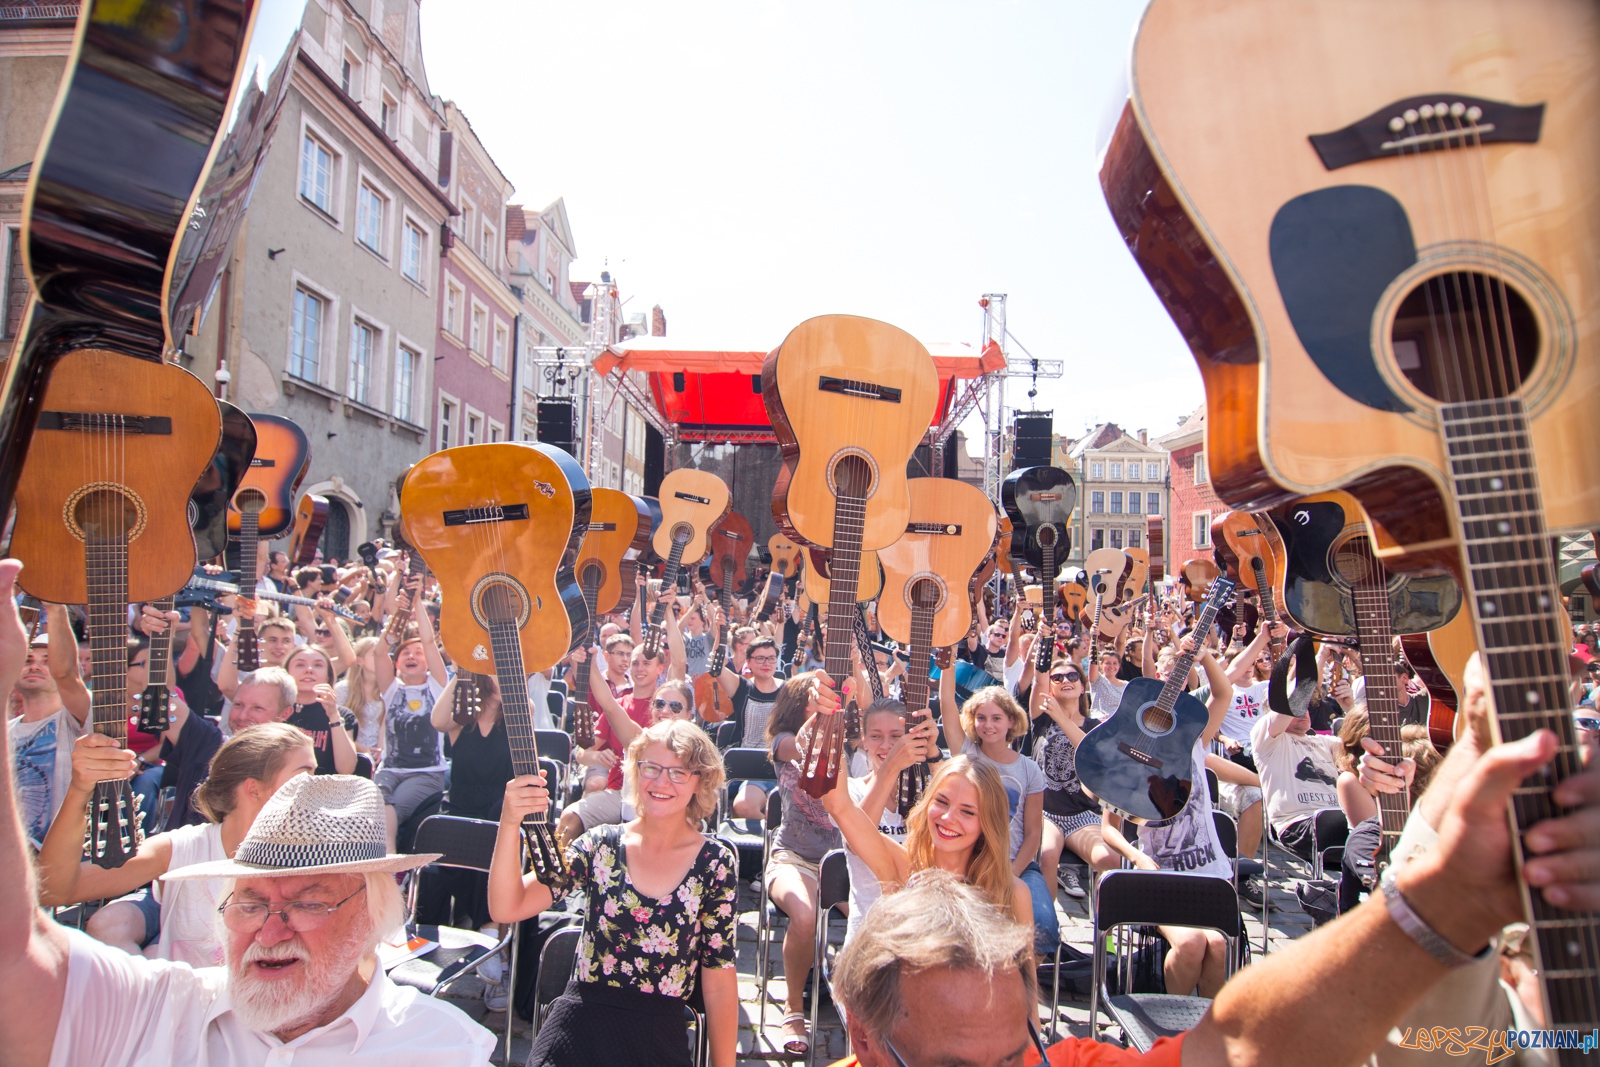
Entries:
MULTIPOLYGON (((931 426, 950 410, 957 381, 1005 366, 1005 355, 992 341, 981 354, 960 344, 933 346, 931 354, 939 371, 931 426)), ((648 374, 656 410, 677 426, 678 440, 755 443, 776 440, 762 403, 765 360, 765 352, 667 347, 666 338, 635 338, 611 346, 595 360, 595 370, 648 374)))

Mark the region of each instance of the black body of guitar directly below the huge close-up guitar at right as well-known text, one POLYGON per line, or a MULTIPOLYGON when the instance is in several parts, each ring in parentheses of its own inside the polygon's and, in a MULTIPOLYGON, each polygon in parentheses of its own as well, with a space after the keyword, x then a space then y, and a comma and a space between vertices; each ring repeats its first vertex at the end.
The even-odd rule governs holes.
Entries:
MULTIPOLYGON (((1346 545, 1366 539, 1362 509, 1349 493, 1317 493, 1266 515, 1277 526, 1286 555, 1285 614, 1296 627, 1323 637, 1355 635, 1355 601, 1347 574, 1355 560, 1341 563, 1346 545)), ((1461 611, 1461 585, 1435 574, 1389 576, 1390 622, 1395 633, 1426 633, 1461 611)))

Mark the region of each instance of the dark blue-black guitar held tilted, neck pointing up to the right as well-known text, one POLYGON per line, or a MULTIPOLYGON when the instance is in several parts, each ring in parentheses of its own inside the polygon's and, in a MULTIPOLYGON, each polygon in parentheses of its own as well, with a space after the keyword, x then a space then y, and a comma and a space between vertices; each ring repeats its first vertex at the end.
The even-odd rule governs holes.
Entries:
MULTIPOLYGON (((1216 579, 1195 621, 1205 633, 1234 582, 1216 579)), ((1194 792, 1194 747, 1210 721, 1206 705, 1184 693, 1194 653, 1181 653, 1166 681, 1134 678, 1110 718, 1077 750, 1078 777, 1101 806, 1134 822, 1171 819, 1194 792)))

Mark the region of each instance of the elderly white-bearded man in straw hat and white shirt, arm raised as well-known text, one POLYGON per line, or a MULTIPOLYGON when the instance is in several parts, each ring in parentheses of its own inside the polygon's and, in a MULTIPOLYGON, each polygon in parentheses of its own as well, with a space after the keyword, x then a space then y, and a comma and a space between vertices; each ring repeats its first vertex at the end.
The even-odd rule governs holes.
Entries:
MULTIPOLYGON (((0 561, 0 691, 21 673, 21 565, 0 561)), ((458 1008, 389 981, 379 941, 403 917, 384 801, 366 779, 299 776, 230 861, 170 872, 229 878, 222 968, 146 960, 62 929, 35 904, 11 761, 0 760, 0 1059, 8 1067, 488 1064, 493 1035, 458 1008)))

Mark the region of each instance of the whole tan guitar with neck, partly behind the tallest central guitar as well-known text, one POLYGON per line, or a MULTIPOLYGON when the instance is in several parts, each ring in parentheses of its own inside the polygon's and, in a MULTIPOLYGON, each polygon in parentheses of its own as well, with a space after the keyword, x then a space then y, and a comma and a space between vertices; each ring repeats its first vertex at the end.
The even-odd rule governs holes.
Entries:
MULTIPOLYGON (((973 624, 971 577, 992 557, 1000 515, 982 490, 955 478, 912 478, 910 522, 899 541, 878 550, 883 595, 878 625, 910 648, 901 699, 910 723, 928 709, 928 675, 934 648, 966 637, 973 624)), ((899 809, 909 814, 928 784, 928 765, 901 771, 899 809)))

